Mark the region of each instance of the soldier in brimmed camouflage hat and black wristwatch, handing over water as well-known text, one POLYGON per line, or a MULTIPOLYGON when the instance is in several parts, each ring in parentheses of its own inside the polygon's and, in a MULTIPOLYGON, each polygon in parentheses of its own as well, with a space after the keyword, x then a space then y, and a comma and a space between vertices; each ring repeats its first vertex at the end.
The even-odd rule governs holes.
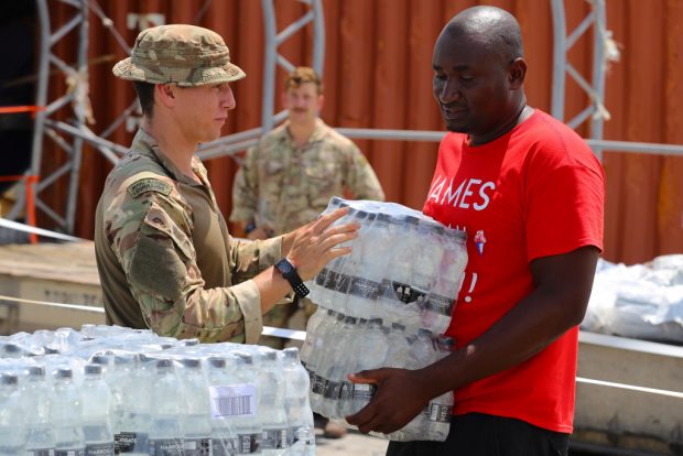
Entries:
POLYGON ((265 241, 230 237, 194 155, 198 143, 220 135, 235 108, 229 83, 245 77, 215 32, 148 29, 113 74, 134 82, 144 117, 96 213, 107 323, 204 343, 254 343, 262 313, 292 291, 272 264, 286 256, 303 280, 313 278, 348 252, 336 246, 358 226, 327 229, 338 213, 265 241))

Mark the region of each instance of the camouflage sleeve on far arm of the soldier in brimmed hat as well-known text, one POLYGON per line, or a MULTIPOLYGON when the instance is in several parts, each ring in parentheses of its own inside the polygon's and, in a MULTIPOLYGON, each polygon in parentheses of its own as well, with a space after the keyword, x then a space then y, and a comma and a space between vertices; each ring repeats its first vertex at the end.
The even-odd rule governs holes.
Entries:
POLYGON ((230 237, 230 271, 232 282, 251 279, 282 258, 282 236, 265 240, 235 240, 230 237))

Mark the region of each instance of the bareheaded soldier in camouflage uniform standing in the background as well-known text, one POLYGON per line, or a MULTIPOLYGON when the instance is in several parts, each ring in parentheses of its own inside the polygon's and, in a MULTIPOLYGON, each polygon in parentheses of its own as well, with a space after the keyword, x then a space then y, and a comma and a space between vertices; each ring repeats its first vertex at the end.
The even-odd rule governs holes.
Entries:
MULTIPOLYGON (((313 68, 299 67, 285 80, 282 104, 288 120, 247 152, 232 188, 230 221, 250 239, 267 239, 314 220, 333 196, 383 200, 372 167, 348 138, 318 117, 322 84, 313 68)), ((299 302, 306 321, 315 305, 299 302)), ((278 306, 263 317, 265 325, 285 327, 295 304, 278 306)), ((261 343, 282 348, 283 339, 261 343)))

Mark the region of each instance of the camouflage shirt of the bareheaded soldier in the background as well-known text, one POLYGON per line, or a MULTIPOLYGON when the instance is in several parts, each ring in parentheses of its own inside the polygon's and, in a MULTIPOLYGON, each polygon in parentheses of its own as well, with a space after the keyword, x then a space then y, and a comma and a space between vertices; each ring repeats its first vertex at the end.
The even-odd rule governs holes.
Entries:
POLYGON ((235 177, 231 221, 253 220, 282 235, 314 220, 345 188, 355 199, 384 199, 372 166, 351 140, 317 119, 311 139, 297 149, 288 124, 247 152, 235 177))

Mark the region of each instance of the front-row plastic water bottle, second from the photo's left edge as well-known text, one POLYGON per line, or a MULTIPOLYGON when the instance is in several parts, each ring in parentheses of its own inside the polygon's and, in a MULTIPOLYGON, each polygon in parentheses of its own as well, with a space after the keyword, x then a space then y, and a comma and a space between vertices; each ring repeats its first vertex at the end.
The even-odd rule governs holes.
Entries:
POLYGON ((45 379, 45 368, 31 366, 23 387, 26 411, 26 455, 54 454, 55 435, 50 421, 52 406, 51 384, 45 379))

